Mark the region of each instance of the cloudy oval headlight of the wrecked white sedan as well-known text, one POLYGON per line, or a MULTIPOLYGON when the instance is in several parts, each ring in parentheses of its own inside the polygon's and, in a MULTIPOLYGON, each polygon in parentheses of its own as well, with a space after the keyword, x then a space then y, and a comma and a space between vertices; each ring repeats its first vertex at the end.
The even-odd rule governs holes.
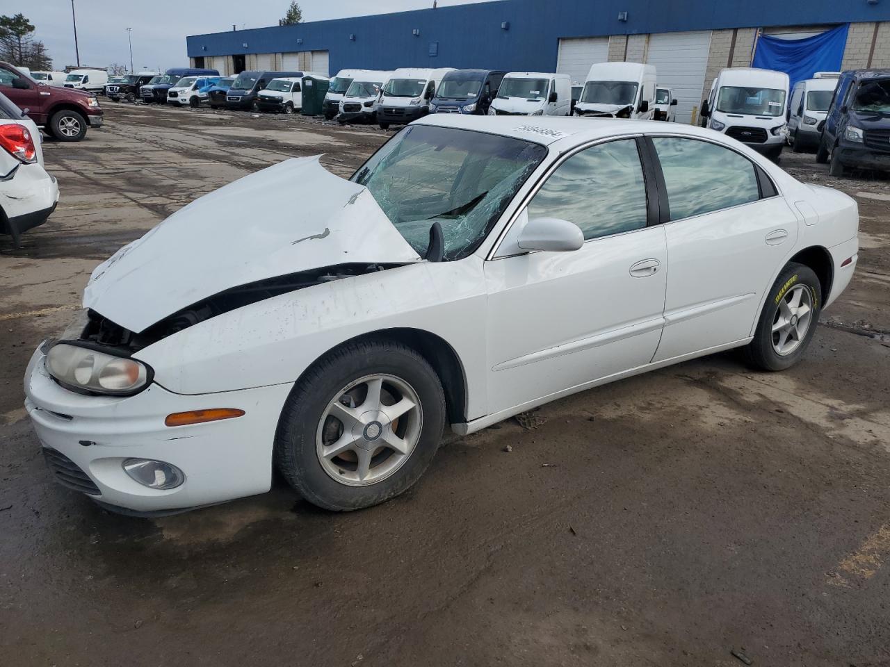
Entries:
POLYGON ((46 355, 46 370, 69 389, 112 395, 134 394, 151 376, 149 366, 135 359, 67 343, 53 345, 46 355))

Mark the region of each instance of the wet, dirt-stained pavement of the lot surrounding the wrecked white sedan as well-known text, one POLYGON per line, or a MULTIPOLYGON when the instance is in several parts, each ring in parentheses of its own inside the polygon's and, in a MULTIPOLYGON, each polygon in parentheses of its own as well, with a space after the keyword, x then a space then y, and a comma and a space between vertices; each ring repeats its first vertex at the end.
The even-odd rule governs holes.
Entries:
POLYGON ((103 106, 87 141, 45 144, 50 221, 0 238, 0 663, 890 664, 890 181, 783 157, 862 213, 854 283, 788 373, 727 354, 587 391, 452 440, 371 510, 277 481, 123 518, 44 469, 31 351, 99 261, 190 200, 291 156, 345 175, 387 135, 103 106))

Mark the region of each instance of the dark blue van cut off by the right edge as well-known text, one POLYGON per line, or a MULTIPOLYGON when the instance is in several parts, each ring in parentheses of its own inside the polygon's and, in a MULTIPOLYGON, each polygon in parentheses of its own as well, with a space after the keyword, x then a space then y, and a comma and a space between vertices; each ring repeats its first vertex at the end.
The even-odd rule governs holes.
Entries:
POLYGON ((837 81, 816 152, 831 175, 847 168, 890 172, 890 69, 856 69, 837 81))

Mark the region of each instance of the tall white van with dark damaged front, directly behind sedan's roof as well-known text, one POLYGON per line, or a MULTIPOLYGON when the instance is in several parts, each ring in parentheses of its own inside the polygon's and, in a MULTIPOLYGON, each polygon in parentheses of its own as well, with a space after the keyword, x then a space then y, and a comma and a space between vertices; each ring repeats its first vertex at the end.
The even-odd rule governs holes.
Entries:
POLYGON ((587 74, 575 116, 651 120, 657 80, 654 65, 597 62, 587 74))

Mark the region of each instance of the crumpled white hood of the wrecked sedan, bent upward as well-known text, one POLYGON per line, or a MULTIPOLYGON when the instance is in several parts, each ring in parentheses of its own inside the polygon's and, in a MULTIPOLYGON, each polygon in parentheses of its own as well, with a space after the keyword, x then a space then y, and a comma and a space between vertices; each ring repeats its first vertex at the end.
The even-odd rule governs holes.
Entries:
POLYGON ((420 261, 364 186, 320 156, 200 197, 100 264, 84 307, 130 331, 232 287, 347 263, 420 261))

